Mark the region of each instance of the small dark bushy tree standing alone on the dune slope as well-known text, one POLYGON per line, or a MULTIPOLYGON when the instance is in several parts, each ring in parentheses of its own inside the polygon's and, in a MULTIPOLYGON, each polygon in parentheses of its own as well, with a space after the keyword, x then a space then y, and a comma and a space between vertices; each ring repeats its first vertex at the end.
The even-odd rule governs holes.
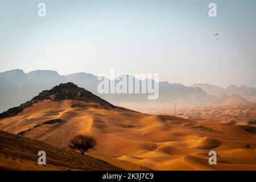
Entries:
POLYGON ((82 155, 89 149, 94 149, 97 145, 94 137, 88 137, 85 135, 78 135, 69 142, 69 148, 72 150, 79 150, 82 155))

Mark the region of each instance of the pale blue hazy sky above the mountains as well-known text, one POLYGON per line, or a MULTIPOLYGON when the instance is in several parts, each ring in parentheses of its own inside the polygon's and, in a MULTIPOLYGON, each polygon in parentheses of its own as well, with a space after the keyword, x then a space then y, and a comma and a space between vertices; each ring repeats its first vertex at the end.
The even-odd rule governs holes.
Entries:
POLYGON ((0 72, 113 68, 187 86, 256 87, 255 9, 254 0, 0 0, 0 72))

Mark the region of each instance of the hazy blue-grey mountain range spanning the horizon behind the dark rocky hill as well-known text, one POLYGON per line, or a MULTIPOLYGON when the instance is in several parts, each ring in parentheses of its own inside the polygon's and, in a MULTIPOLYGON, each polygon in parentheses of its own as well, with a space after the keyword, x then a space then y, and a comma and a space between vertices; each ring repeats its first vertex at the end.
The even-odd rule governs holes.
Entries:
MULTIPOLYGON (((134 77, 134 79, 137 78, 134 77)), ((143 81, 140 80, 139 82, 142 83, 143 81)), ((100 94, 97 92, 97 85, 100 81, 97 80, 97 76, 90 73, 74 73, 68 76, 61 76, 56 71, 36 70, 24 73, 21 69, 14 69, 0 73, 0 111, 18 106, 27 100, 31 100, 32 97, 38 95, 42 90, 48 90, 53 86, 66 82, 73 82, 115 105, 123 102, 175 102, 180 105, 189 106, 217 105, 224 102, 222 97, 220 97, 222 93, 228 96, 238 94, 245 97, 248 101, 256 102, 255 89, 246 88, 246 86, 237 88, 237 86, 233 85, 229 86, 228 89, 221 89, 221 87, 214 85, 195 84, 193 86, 184 86, 181 84, 170 84, 169 82, 159 82, 158 100, 148 101, 148 94, 142 93, 100 94), (227 93, 223 90, 229 90, 229 92, 227 93)))

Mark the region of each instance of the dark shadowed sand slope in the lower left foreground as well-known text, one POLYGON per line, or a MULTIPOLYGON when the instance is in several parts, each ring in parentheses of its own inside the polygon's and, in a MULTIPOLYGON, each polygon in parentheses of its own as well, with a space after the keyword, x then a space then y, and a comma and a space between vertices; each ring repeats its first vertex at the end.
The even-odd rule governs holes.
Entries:
POLYGON ((51 146, 38 140, 0 131, 0 169, 2 170, 122 170, 102 160, 82 156, 70 150, 51 146), (46 165, 38 164, 38 151, 47 154, 46 165))

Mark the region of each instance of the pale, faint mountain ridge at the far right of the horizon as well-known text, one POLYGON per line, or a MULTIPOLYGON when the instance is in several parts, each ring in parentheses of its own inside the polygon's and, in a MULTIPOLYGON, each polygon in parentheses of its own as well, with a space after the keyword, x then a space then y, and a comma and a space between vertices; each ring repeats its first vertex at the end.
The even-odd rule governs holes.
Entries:
POLYGON ((221 86, 215 86, 210 84, 192 85, 192 88, 198 87, 203 89, 206 93, 215 96, 221 96, 222 94, 227 94, 228 96, 231 96, 232 94, 237 94, 245 98, 247 101, 256 102, 256 89, 246 85, 242 85, 239 87, 236 85, 229 85, 228 88, 223 88, 221 86))

